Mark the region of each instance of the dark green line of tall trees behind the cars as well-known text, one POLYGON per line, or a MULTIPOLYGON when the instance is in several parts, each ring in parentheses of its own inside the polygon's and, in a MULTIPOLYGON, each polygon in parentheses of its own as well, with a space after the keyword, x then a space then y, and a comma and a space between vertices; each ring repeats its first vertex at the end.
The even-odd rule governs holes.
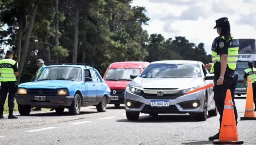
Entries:
MULTIPOLYGON (((87 63, 103 75, 117 61, 211 61, 204 44, 185 37, 149 35, 145 7, 132 0, 0 0, 0 46, 15 52, 27 82, 38 69, 37 59, 49 63, 87 63), (7 30, 1 29, 8 26, 7 30)), ((0 50, 1 56, 4 50, 0 50)))

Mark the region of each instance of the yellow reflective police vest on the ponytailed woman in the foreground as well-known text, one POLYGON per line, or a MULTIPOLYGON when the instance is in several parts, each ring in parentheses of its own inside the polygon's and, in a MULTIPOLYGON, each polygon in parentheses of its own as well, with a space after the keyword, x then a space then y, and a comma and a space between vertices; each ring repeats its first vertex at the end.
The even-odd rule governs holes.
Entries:
MULTIPOLYGON (((213 68, 214 64, 216 62, 220 63, 220 60, 221 60, 220 55, 217 55, 217 43, 216 42, 217 42, 218 38, 219 39, 223 38, 225 40, 224 36, 222 36, 221 38, 217 37, 217 39, 215 38, 215 41, 213 42, 214 44, 212 44, 212 67, 211 67, 210 73, 214 73, 214 68, 213 68)), ((236 69, 236 63, 237 63, 237 57, 238 57, 239 39, 232 36, 232 40, 229 40, 228 42, 226 42, 226 44, 229 45, 229 48, 228 48, 228 67, 231 70, 235 70, 236 69)), ((221 48, 219 48, 219 49, 221 49, 221 48)))

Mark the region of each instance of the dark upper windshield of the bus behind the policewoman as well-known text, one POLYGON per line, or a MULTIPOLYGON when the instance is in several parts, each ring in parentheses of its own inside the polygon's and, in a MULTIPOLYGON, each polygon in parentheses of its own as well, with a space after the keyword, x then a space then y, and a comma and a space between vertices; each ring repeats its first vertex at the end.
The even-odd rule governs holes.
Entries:
POLYGON ((254 39, 239 39, 238 53, 255 53, 254 39))

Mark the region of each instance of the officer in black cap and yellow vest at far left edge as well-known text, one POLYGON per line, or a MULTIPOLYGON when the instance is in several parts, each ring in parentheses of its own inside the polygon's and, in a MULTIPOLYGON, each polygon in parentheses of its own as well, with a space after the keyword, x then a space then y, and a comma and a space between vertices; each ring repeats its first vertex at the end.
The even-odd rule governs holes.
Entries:
POLYGON ((18 63, 13 60, 13 51, 7 50, 6 57, 0 60, 0 73, 1 73, 1 89, 0 89, 0 118, 4 118, 4 104, 8 95, 9 119, 17 119, 13 115, 14 98, 18 91, 18 84, 16 77, 19 75, 18 63))

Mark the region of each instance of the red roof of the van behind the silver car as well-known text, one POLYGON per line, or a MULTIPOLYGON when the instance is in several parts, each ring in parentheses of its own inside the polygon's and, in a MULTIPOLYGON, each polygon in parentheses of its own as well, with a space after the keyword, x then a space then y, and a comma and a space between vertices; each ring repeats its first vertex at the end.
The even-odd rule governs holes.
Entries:
POLYGON ((109 65, 108 68, 140 68, 141 64, 148 63, 146 61, 122 61, 122 62, 115 62, 109 65))

